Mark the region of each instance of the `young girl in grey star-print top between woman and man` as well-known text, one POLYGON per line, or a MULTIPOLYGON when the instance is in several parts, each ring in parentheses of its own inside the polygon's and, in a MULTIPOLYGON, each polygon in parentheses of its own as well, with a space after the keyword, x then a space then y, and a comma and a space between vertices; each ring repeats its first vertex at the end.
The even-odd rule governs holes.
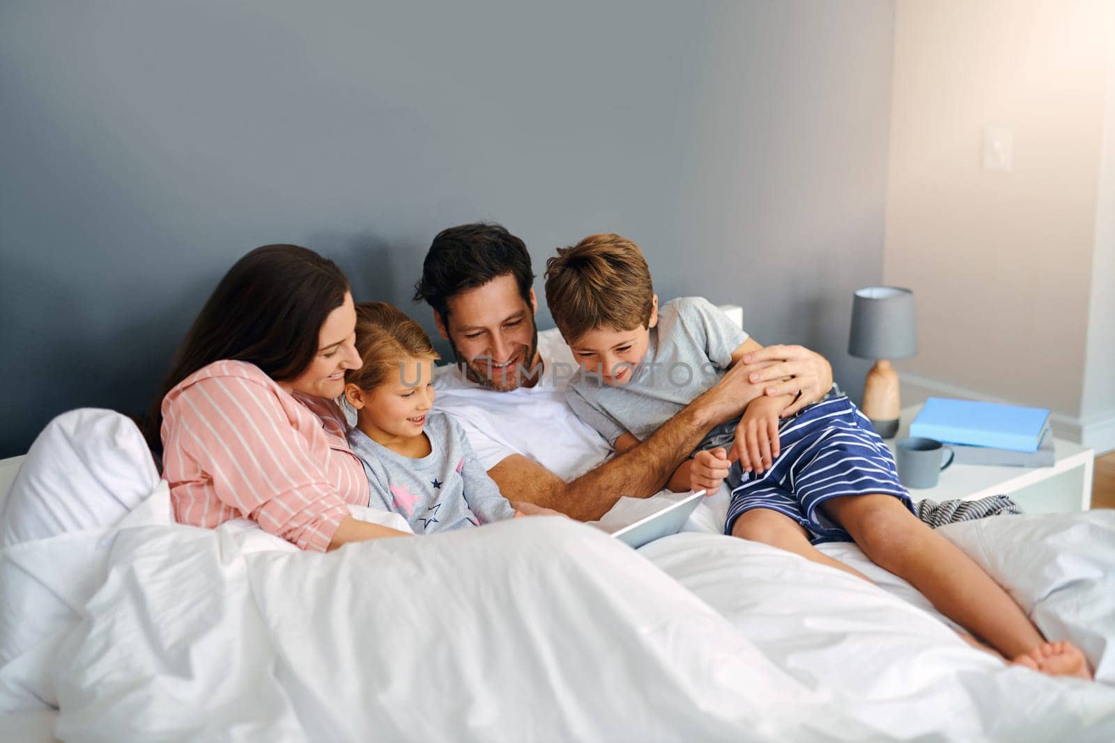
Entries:
POLYGON ((430 412, 438 355, 426 332, 386 302, 363 302, 356 311, 363 365, 345 372, 345 399, 357 411, 348 440, 368 475, 368 505, 401 515, 415 534, 520 516, 460 427, 430 412))

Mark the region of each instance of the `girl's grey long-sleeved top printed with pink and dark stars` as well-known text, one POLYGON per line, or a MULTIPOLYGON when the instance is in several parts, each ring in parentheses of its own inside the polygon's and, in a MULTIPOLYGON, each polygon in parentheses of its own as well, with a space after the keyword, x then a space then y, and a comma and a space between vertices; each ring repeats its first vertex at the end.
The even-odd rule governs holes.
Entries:
POLYGON ((430 412, 424 430, 430 452, 421 459, 396 453, 358 428, 349 431, 349 446, 363 462, 371 486, 369 506, 401 515, 415 534, 478 526, 515 515, 455 421, 430 412))

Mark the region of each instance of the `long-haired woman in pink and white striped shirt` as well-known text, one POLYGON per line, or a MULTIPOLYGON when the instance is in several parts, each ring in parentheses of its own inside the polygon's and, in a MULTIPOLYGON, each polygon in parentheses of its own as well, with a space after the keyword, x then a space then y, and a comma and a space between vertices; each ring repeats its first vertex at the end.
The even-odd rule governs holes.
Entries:
POLYGON ((248 517, 302 549, 407 536, 359 521, 368 480, 333 400, 360 366, 349 283, 332 261, 264 245, 225 274, 148 417, 175 518, 248 517))

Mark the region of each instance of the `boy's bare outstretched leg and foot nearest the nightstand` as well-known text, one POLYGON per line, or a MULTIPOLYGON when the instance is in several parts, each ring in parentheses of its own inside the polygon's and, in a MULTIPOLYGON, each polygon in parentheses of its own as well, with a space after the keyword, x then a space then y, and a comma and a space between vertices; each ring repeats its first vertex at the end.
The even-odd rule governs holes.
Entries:
POLYGON ((846 496, 822 508, 876 565, 908 580, 1004 657, 1051 675, 1092 677, 1083 653, 1068 643, 1047 643, 991 576, 893 496, 846 496))

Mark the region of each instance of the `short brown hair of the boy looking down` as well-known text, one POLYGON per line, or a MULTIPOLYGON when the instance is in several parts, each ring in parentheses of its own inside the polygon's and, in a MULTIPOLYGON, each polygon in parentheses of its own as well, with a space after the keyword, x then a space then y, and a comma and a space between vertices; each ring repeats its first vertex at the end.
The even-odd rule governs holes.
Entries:
POLYGON ((627 237, 589 235, 546 261, 546 304, 569 343, 598 327, 647 327, 653 301, 650 267, 627 237))

